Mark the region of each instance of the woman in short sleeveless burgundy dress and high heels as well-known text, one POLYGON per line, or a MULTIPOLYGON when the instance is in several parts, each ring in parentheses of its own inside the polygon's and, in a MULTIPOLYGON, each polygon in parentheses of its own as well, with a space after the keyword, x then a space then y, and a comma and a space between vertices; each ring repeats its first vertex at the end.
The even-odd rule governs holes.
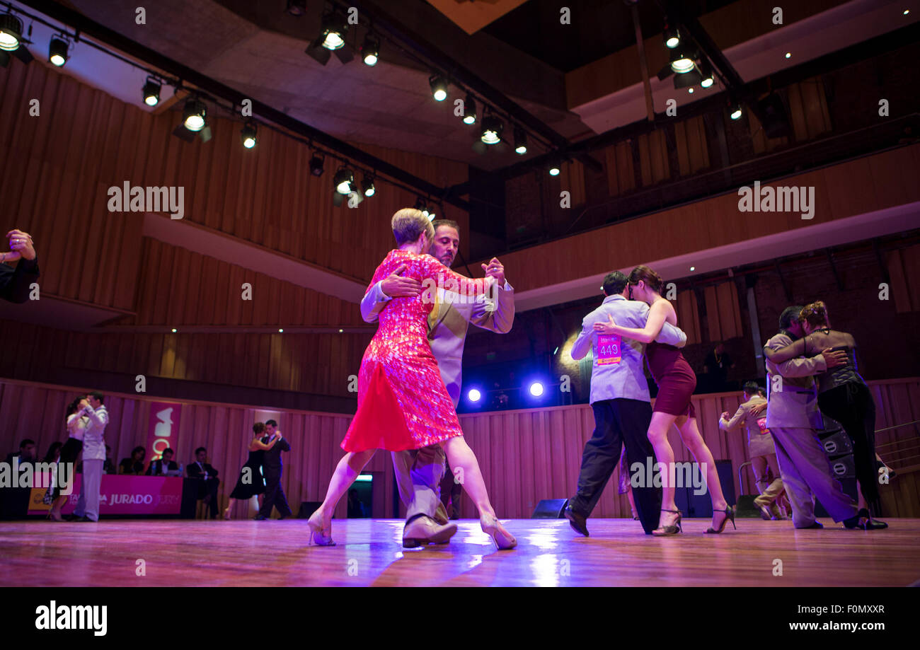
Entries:
POLYGON ((655 450, 655 457, 661 463, 661 517, 658 528, 651 531, 653 535, 673 535, 681 531, 681 512, 674 504, 674 485, 670 480, 671 468, 674 467, 674 450, 668 442, 668 430, 675 425, 680 431, 684 445, 696 462, 706 468, 706 485, 712 499, 712 526, 707 532, 718 533, 725 529, 731 519, 735 525, 735 513, 722 495, 719 473, 712 452, 706 446, 703 436, 696 426, 696 412, 690 402, 690 396, 696 389, 696 373, 684 359, 678 348, 655 341, 665 321, 677 325, 677 313, 671 302, 661 298, 661 276, 649 267, 633 268, 629 274, 630 297, 649 305, 649 320, 645 327, 621 327, 616 325, 613 316, 609 323, 595 323, 594 329, 604 334, 626 336, 648 344, 645 357, 649 361, 649 371, 658 384, 658 396, 652 408, 649 440, 655 450), (676 517, 674 516, 676 515, 676 517))

